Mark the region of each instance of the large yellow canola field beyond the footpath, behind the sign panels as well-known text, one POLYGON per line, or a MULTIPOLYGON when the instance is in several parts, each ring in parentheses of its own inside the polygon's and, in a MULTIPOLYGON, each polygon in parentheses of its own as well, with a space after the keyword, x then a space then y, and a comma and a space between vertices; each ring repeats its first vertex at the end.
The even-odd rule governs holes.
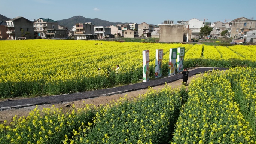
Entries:
POLYGON ((138 82, 142 51, 164 49, 162 73, 168 73, 170 48, 185 47, 185 67, 256 67, 255 46, 206 46, 72 40, 0 41, 0 96, 58 95, 138 82), (121 67, 115 73, 115 65, 121 67), (97 71, 101 67, 100 71, 97 71))

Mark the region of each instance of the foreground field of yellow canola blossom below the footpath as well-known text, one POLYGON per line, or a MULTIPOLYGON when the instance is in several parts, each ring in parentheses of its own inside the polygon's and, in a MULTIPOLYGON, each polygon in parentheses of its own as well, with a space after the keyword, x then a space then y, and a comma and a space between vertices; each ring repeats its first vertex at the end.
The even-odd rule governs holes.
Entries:
POLYGON ((72 112, 37 108, 0 125, 1 144, 256 144, 256 72, 213 71, 182 86, 72 112))

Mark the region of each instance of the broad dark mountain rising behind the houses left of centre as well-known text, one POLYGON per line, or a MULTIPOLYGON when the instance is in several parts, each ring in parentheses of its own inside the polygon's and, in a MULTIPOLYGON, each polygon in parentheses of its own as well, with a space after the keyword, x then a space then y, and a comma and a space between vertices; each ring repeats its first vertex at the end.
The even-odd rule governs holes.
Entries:
MULTIPOLYGON (((69 19, 63 19, 63 20, 57 20, 59 22, 59 25, 65 25, 69 29, 71 29, 75 24, 77 23, 85 23, 85 22, 91 22, 95 26, 110 26, 110 25, 116 25, 116 24, 124 24, 123 22, 109 22, 105 20, 101 20, 98 18, 85 18, 83 16, 73 16, 72 18, 69 19)), ((132 22, 125 22, 126 23, 132 23, 132 22)))

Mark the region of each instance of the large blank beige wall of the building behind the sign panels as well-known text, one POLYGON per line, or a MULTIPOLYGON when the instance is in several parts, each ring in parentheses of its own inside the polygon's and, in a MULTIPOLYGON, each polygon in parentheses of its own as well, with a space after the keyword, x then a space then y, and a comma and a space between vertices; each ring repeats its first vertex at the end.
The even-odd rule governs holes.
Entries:
POLYGON ((183 42, 184 25, 160 25, 160 42, 183 42))

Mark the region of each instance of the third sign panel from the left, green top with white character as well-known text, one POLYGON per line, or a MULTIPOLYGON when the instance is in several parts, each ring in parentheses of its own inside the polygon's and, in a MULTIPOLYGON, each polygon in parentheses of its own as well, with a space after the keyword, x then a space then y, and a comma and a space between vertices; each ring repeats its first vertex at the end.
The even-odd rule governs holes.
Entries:
POLYGON ((178 51, 177 48, 170 49, 168 76, 175 74, 177 51, 178 51))

